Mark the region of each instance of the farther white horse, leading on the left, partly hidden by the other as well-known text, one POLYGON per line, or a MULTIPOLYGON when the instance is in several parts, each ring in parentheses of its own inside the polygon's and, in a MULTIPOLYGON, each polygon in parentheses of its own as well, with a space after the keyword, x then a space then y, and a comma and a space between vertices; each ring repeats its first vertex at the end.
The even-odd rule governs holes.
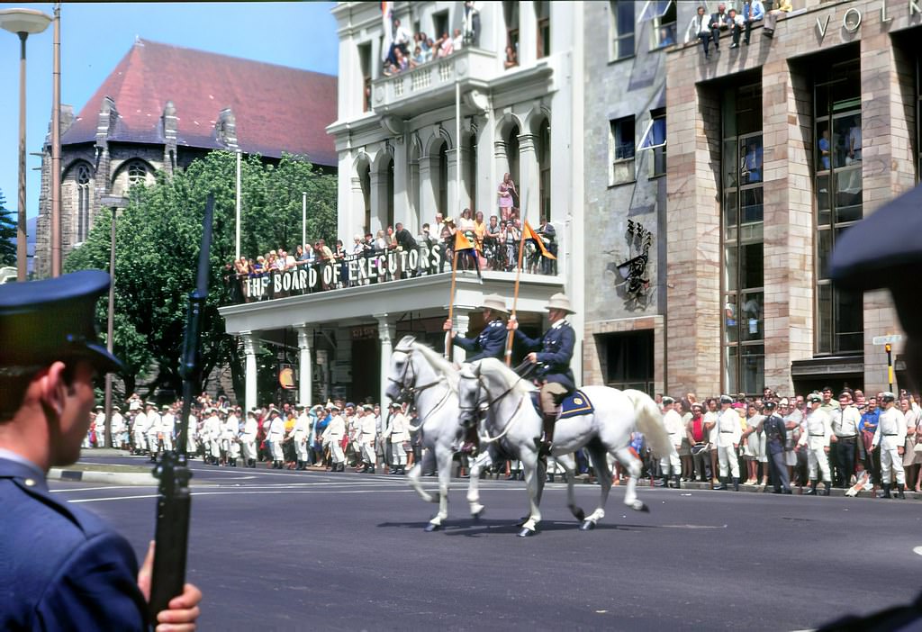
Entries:
MULTIPOLYGON (((452 459, 464 427, 458 422, 458 371, 450 362, 426 345, 404 336, 391 356, 390 375, 384 391, 391 400, 411 398, 420 419, 422 462, 415 463, 408 481, 426 502, 439 503, 439 512, 426 525, 427 532, 439 531, 448 517, 448 486, 452 480, 452 459), (431 467, 434 459, 439 474, 439 495, 433 497, 422 488, 420 474, 431 467)), ((471 479, 473 480, 473 479, 471 479)), ((478 518, 483 506, 471 506, 478 518)))

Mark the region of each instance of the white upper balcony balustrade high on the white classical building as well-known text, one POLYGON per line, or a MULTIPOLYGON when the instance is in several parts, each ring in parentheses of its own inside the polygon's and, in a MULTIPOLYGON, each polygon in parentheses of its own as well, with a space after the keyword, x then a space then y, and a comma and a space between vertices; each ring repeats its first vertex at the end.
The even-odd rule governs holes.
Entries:
POLYGON ((422 111, 452 102, 455 81, 478 86, 500 74, 496 53, 465 48, 372 82, 372 108, 379 113, 422 111))

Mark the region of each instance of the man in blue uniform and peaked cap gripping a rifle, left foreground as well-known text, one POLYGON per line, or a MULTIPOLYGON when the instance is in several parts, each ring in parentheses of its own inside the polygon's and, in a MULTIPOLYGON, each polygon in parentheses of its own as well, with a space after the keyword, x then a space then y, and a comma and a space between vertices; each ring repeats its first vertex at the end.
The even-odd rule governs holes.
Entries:
MULTIPOLYGON (((45 481, 51 467, 80 456, 93 379, 121 368, 94 327, 108 287, 109 275, 95 270, 0 286, 3 630, 148 629, 153 543, 138 573, 121 535, 53 496, 45 481)), ((158 629, 195 629, 201 598, 186 584, 158 629)))

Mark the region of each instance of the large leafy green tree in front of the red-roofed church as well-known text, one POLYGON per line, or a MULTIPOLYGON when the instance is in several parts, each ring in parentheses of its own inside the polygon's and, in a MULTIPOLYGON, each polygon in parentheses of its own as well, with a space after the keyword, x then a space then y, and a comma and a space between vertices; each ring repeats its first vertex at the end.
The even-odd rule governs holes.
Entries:
MULTIPOLYGON (((128 364, 129 392, 142 379, 150 380, 149 392, 160 388, 181 392, 179 363, 188 293, 195 287, 205 204, 208 193, 213 193, 203 376, 229 365, 234 389, 242 393, 242 349, 224 332, 218 313, 230 293, 223 282, 224 268, 235 252, 235 161, 233 153, 216 151, 171 178, 159 173, 154 184, 131 189, 130 202, 117 218, 113 347, 128 364)), ((334 176, 320 173, 301 158, 284 156, 273 165, 251 156, 243 160, 241 182, 244 256, 278 248, 294 250, 301 241, 301 192, 307 193, 309 239, 335 240, 334 176)), ((65 268, 108 269, 111 227, 111 219, 100 216, 88 240, 67 257, 65 268)))

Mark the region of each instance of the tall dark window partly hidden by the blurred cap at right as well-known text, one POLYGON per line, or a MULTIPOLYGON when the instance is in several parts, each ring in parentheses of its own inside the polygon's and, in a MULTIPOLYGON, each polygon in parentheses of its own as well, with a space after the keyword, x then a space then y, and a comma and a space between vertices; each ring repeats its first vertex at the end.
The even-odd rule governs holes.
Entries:
POLYGON ((833 287, 829 278, 835 240, 863 215, 860 68, 857 56, 820 66, 813 81, 816 350, 818 354, 860 353, 864 350, 861 294, 833 287))

